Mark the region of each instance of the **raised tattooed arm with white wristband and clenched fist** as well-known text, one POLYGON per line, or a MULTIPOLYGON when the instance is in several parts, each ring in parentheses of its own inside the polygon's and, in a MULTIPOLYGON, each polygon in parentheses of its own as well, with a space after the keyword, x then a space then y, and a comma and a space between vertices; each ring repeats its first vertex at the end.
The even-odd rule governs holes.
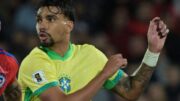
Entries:
POLYGON ((147 86, 158 61, 169 30, 160 18, 156 17, 150 22, 148 30, 148 50, 140 67, 132 76, 125 75, 113 89, 117 94, 129 101, 138 99, 147 86))

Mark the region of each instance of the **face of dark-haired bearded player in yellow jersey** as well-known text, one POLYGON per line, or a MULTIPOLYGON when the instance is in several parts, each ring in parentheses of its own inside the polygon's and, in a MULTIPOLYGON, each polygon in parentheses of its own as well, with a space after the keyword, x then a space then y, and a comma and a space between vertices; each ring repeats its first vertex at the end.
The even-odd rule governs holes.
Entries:
POLYGON ((55 6, 39 8, 36 19, 36 30, 43 46, 62 43, 70 33, 66 26, 67 18, 55 6))

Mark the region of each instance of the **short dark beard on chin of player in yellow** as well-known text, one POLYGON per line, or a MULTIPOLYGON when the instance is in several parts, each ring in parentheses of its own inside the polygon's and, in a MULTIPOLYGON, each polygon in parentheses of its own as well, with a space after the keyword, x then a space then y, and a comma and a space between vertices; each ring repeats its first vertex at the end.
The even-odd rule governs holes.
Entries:
POLYGON ((40 40, 40 46, 43 46, 43 47, 51 47, 51 46, 53 46, 54 45, 54 40, 53 40, 53 38, 51 37, 51 35, 50 34, 48 34, 48 39, 47 40, 45 40, 45 41, 41 41, 40 40))

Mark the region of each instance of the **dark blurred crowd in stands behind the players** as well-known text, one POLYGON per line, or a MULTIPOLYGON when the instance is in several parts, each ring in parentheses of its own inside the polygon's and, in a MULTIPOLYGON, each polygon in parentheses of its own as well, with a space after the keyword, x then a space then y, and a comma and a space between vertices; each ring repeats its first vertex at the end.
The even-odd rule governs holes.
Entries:
MULTIPOLYGON (((35 29, 38 0, 0 0, 0 47, 19 63, 38 45, 35 29)), ((138 67, 147 49, 150 20, 159 16, 170 33, 158 67, 138 101, 180 101, 180 0, 73 0, 76 8, 72 42, 89 43, 107 57, 122 53, 128 59, 124 71, 138 67)), ((101 90, 93 101, 125 101, 101 90)))

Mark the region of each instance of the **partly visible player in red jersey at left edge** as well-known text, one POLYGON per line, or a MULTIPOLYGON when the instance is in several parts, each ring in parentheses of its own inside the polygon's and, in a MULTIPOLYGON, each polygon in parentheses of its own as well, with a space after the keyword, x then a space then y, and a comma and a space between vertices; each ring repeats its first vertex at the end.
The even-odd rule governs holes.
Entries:
POLYGON ((18 69, 15 57, 0 48, 0 96, 3 95, 5 101, 21 100, 21 90, 16 80, 18 69))

